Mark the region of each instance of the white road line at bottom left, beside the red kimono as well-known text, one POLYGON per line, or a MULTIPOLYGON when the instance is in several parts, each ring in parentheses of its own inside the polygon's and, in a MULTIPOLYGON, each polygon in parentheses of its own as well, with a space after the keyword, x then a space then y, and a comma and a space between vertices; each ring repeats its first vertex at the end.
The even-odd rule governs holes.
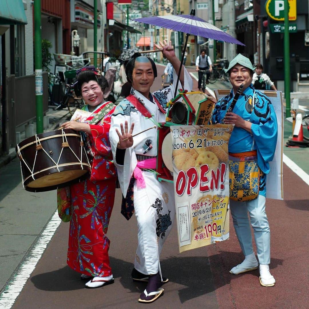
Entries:
POLYGON ((36 239, 36 243, 28 252, 24 260, 20 263, 19 267, 13 273, 11 279, 8 281, 0 295, 0 308, 10 309, 19 293, 23 290, 24 285, 30 278, 36 264, 43 255, 48 243, 55 234, 58 226, 61 223, 61 219, 58 216, 58 210, 53 214, 53 217, 47 223, 45 229, 36 239))

